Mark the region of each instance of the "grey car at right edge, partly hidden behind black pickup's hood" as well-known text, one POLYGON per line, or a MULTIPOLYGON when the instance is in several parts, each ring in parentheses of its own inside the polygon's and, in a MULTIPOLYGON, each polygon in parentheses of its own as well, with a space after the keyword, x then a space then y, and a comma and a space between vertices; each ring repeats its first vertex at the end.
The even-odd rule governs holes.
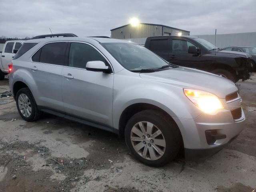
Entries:
POLYGON ((227 51, 237 51, 237 52, 245 52, 250 54, 251 57, 251 64, 252 64, 252 70, 256 71, 256 47, 250 47, 250 46, 234 46, 234 47, 226 47, 223 48, 223 50, 227 51))

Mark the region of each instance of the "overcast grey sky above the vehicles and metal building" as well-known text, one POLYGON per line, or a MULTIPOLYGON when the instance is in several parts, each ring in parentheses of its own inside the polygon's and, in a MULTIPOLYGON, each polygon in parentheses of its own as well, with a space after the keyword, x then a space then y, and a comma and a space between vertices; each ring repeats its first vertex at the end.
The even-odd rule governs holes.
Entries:
POLYGON ((256 32, 256 0, 0 0, 0 36, 53 33, 110 36, 140 22, 172 26, 190 35, 256 32))

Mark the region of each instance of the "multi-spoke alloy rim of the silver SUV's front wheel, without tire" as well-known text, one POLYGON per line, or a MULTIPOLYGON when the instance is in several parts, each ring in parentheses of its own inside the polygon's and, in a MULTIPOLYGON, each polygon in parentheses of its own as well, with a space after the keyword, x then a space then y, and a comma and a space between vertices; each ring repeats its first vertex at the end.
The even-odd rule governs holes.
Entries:
POLYGON ((147 160, 157 160, 164 155, 166 141, 161 130, 154 124, 141 121, 131 130, 130 139, 134 150, 147 160))

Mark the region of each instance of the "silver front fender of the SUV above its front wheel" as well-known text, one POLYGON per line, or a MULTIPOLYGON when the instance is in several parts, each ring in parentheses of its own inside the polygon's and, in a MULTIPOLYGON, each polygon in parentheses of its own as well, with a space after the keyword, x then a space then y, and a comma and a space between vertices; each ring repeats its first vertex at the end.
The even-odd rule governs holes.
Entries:
POLYGON ((113 126, 116 129, 122 112, 138 103, 157 106, 176 118, 194 119, 202 113, 186 98, 182 87, 142 78, 125 78, 118 75, 114 78, 113 126))

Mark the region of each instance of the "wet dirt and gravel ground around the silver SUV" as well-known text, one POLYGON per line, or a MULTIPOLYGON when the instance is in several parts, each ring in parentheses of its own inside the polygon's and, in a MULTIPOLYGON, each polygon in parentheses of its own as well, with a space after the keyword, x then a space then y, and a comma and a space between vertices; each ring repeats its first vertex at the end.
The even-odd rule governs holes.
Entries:
MULTIPOLYGON (((0 192, 252 192, 256 188, 256 74, 238 82, 246 127, 220 152, 161 168, 130 155, 124 138, 45 115, 25 122, 0 98, 0 192)), ((0 92, 8 91, 8 80, 0 92)))

